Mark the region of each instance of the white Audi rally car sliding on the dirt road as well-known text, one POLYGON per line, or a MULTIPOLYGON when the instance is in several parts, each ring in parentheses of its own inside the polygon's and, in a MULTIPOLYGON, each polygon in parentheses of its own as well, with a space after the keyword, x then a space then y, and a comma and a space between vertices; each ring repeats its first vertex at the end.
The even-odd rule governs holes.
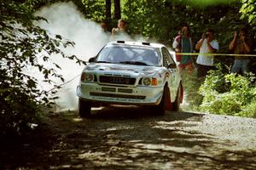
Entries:
POLYGON ((81 74, 79 116, 90 117, 101 104, 143 105, 157 115, 177 111, 183 86, 172 57, 160 43, 108 42, 81 74))

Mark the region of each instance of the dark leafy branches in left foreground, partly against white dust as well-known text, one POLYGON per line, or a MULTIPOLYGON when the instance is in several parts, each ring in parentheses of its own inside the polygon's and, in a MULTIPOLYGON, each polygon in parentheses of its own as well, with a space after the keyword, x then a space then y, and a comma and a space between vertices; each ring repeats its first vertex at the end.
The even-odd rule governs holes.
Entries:
POLYGON ((68 58, 59 47, 73 45, 73 42, 63 40, 59 35, 50 37, 46 31, 33 25, 34 20, 43 19, 34 16, 25 3, 1 1, 0 136, 26 132, 37 120, 39 106, 43 103, 50 105, 49 95, 60 88, 52 78, 64 81, 56 71, 60 66, 54 64, 55 67, 46 68, 44 61, 49 60, 50 54, 68 58), (44 82, 55 88, 50 92, 40 90, 35 75, 27 71, 32 68, 37 68, 44 82))

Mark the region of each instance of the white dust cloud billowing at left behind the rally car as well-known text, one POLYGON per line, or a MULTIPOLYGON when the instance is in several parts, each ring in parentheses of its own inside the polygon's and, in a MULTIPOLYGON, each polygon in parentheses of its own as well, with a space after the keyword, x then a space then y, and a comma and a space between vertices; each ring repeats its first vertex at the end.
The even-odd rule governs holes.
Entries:
MULTIPOLYGON (((36 15, 42 16, 48 21, 40 21, 37 25, 49 31, 49 34, 61 35, 65 39, 75 42, 74 48, 61 49, 65 54, 74 54, 84 61, 95 56, 110 41, 109 35, 104 33, 102 27, 94 21, 84 19, 73 3, 55 3, 41 8, 36 15)), ((55 110, 77 110, 76 87, 79 84, 79 75, 84 65, 78 65, 71 59, 63 59, 60 55, 51 55, 50 58, 52 62, 61 66, 58 73, 67 82, 57 94, 60 99, 55 100, 55 110)), ((59 80, 56 82, 58 85, 62 83, 59 80)))

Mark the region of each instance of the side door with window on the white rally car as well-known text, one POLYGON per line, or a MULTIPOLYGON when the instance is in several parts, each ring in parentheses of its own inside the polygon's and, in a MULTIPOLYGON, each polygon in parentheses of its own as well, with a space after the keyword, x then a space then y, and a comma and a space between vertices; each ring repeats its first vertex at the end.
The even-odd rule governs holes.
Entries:
POLYGON ((171 98, 172 101, 175 100, 176 94, 177 94, 177 88, 180 82, 179 72, 177 69, 177 65, 175 61, 172 59, 172 55, 169 53, 167 48, 162 48, 162 55, 163 55, 163 61, 164 66, 167 68, 168 72, 170 73, 169 78, 169 88, 171 90, 171 98))

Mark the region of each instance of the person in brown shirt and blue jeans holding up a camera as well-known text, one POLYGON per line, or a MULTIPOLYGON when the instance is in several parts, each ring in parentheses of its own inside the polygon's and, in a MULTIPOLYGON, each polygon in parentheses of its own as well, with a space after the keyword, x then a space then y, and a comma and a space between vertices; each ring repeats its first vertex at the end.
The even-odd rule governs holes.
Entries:
MULTIPOLYGON (((234 32, 234 38, 230 42, 229 48, 234 52, 234 54, 251 53, 253 48, 253 41, 247 37, 247 31, 244 27, 240 29, 239 35, 237 31, 234 32)), ((242 74, 245 74, 248 71, 249 63, 250 59, 248 56, 237 55, 235 56, 231 72, 239 73, 241 71, 242 74)))

